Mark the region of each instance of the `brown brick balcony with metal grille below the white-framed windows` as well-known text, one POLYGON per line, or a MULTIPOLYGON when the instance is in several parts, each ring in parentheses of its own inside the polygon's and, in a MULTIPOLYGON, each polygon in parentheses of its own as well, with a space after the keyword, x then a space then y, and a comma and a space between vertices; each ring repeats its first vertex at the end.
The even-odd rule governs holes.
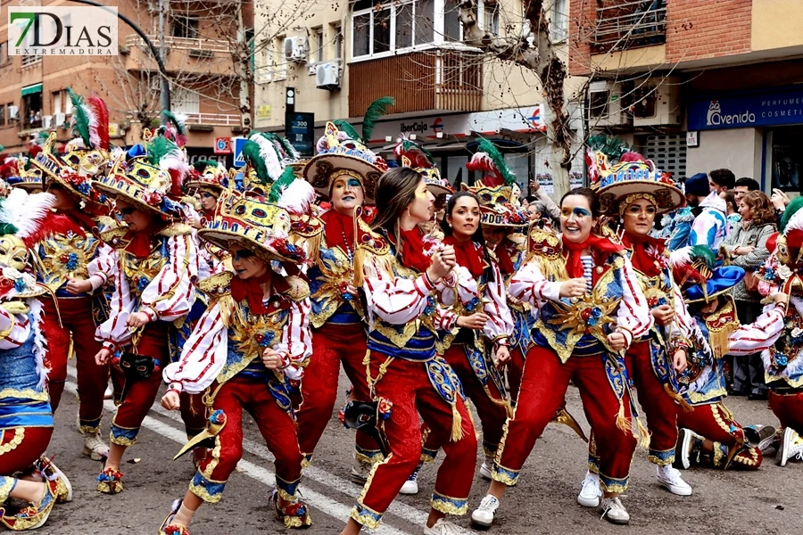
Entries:
POLYGON ((349 65, 349 117, 360 117, 381 96, 393 96, 393 113, 479 111, 482 56, 429 51, 349 65))

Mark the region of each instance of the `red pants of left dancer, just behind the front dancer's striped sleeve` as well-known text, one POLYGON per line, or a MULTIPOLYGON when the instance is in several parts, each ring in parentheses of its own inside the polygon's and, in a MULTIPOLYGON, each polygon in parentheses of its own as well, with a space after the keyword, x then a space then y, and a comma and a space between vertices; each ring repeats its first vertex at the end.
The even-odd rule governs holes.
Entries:
MULTIPOLYGON (((156 399, 156 394, 159 393, 161 370, 170 364, 169 327, 170 324, 164 321, 155 321, 145 325, 136 352, 155 358, 161 369, 154 371, 147 379, 137 379, 129 385, 126 399, 117 407, 117 412, 112 418, 110 440, 113 444, 131 446, 137 441, 139 426, 142 425, 148 411, 153 407, 153 401, 156 399)), ((118 379, 112 382, 115 385, 127 382, 120 366, 112 366, 112 374, 118 375, 118 379)), ((115 399, 119 399, 120 394, 121 392, 115 392, 115 399)), ((188 438, 203 431, 206 426, 206 415, 202 394, 191 396, 186 392, 181 392, 181 419, 184 420, 188 438)))

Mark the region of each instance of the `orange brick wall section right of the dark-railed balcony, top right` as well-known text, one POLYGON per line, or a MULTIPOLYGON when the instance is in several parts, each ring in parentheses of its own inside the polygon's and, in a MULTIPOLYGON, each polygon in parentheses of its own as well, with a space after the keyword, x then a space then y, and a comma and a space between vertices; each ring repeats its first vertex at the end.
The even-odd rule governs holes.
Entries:
POLYGON ((748 53, 752 0, 668 0, 666 62, 748 53))

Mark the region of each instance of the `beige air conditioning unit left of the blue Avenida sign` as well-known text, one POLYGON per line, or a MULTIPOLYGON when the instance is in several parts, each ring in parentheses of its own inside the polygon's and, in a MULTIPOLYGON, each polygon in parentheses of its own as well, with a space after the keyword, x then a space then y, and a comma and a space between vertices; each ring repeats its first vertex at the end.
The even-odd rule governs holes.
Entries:
POLYGON ((680 78, 654 78, 633 89, 633 126, 680 125, 680 78))

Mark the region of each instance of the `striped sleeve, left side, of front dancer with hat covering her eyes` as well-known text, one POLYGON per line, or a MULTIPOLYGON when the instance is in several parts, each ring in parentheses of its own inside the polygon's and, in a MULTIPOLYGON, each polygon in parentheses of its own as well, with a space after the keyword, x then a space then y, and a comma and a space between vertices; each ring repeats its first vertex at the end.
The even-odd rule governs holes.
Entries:
POLYGON ((216 303, 198 320, 178 362, 165 367, 161 376, 176 391, 203 392, 226 364, 227 354, 228 330, 216 303))

